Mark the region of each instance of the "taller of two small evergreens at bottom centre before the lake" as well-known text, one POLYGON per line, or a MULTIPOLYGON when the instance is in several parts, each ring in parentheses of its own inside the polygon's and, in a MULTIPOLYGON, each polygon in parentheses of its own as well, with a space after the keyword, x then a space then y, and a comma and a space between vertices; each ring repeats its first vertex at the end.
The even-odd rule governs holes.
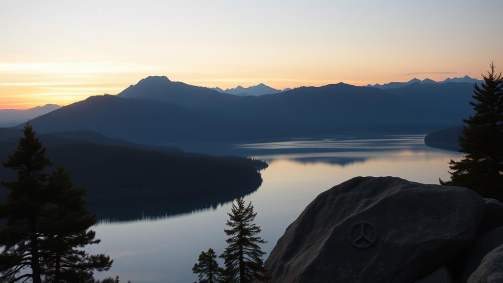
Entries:
POLYGON ((264 267, 262 256, 265 254, 259 244, 266 243, 257 236, 261 229, 253 222, 257 213, 251 202, 245 206, 244 200, 238 198, 232 203, 231 213, 228 213, 227 225, 224 230, 228 246, 220 257, 225 260, 225 277, 229 282, 249 283, 254 280, 267 280, 269 275, 264 267))

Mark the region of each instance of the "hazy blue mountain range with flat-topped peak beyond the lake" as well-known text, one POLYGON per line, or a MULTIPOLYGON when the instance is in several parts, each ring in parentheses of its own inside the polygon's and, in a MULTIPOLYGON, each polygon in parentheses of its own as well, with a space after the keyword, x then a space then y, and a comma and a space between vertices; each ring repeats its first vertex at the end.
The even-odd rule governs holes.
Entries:
POLYGON ((151 76, 32 120, 41 133, 94 131, 152 145, 341 133, 426 133, 473 113, 470 82, 380 89, 345 83, 239 97, 151 76))

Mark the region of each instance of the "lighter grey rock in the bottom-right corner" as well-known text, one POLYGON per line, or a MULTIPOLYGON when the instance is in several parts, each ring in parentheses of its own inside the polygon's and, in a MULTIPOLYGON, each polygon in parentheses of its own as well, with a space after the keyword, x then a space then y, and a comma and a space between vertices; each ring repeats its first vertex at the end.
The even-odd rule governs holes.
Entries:
POLYGON ((477 270, 468 278, 467 283, 501 282, 503 282, 503 245, 484 256, 477 270))

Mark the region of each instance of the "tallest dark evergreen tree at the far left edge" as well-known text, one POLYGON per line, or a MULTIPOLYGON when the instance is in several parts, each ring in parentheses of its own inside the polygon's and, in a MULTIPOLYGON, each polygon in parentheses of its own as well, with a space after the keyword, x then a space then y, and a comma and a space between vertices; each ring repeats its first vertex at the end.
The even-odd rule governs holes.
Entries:
POLYGON ((27 123, 18 148, 3 162, 5 167, 17 170, 18 177, 16 181, 2 181, 10 190, 7 201, 0 205, 0 218, 7 219, 5 227, 0 228, 2 282, 31 278, 33 283, 41 283, 39 223, 48 197, 44 169, 51 164, 45 150, 27 123))

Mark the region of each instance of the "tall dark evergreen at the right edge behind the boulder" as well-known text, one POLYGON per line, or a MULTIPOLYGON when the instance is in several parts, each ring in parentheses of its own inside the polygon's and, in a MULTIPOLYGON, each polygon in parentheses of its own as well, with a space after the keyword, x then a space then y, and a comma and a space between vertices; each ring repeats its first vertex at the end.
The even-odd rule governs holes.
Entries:
POLYGON ((481 87, 473 86, 476 102, 470 105, 475 115, 463 120, 466 125, 458 141, 466 156, 451 160, 451 180, 440 182, 503 201, 503 77, 494 73, 494 64, 490 68, 481 87))

